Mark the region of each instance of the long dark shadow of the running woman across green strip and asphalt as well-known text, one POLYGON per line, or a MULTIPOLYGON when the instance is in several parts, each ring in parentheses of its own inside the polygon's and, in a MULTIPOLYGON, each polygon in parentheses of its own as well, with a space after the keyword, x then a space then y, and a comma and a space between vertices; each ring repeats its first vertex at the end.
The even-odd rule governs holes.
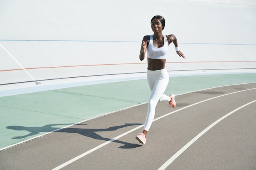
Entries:
MULTIPOLYGON (((141 125, 138 123, 126 123, 124 125, 119 125, 119 126, 112 126, 106 129, 83 129, 83 128, 64 128, 64 129, 60 129, 58 127, 52 127, 52 126, 60 126, 60 125, 69 125, 69 124, 47 124, 45 126, 42 127, 25 127, 25 126, 7 126, 7 129, 12 129, 12 130, 16 130, 16 131, 28 131, 30 132, 27 135, 24 136, 16 136, 13 137, 12 139, 22 139, 25 137, 29 137, 29 136, 33 136, 33 135, 37 135, 40 132, 58 132, 58 133, 78 133, 80 135, 86 136, 86 137, 91 137, 92 139, 97 139, 97 140, 103 140, 103 141, 112 141, 112 142, 116 142, 116 143, 120 143, 120 144, 124 144, 123 146, 120 146, 119 148, 123 148, 123 149, 129 149, 129 148, 136 148, 139 147, 141 145, 139 144, 131 144, 128 142, 124 142, 124 141, 120 141, 120 140, 113 140, 110 138, 106 138, 106 137, 102 137, 101 135, 98 135, 95 132, 104 132, 104 131, 116 131, 117 129, 121 129, 127 126, 137 126, 137 125, 141 125), (60 130, 59 130, 60 129, 60 130)), ((86 125, 86 124, 76 124, 76 125, 86 125)))

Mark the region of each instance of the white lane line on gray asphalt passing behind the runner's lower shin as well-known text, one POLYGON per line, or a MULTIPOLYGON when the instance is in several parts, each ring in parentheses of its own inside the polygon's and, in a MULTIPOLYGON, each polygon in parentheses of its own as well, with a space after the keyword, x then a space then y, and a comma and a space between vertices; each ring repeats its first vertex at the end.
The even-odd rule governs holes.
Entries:
MULTIPOLYGON (((160 116, 160 117, 158 117, 158 118, 155 118, 155 119, 153 120, 153 122, 156 121, 156 120, 159 120, 159 119, 161 119, 161 118, 164 118, 164 117, 166 117, 166 116, 168 116, 168 115, 171 115, 171 114, 173 114, 173 113, 176 113, 177 111, 181 111, 181 110, 183 110, 183 109, 186 109, 186 108, 188 108, 188 107, 191 107, 191 106, 200 104, 200 103, 202 103, 202 102, 206 102, 206 101, 208 101, 208 100, 212 100, 212 99, 215 99, 215 98, 219 98, 219 97, 222 97, 222 96, 227 96, 227 95, 235 94, 235 93, 239 93, 239 92, 245 92, 245 91, 247 91, 247 90, 253 90, 253 89, 256 89, 256 88, 241 90, 241 91, 238 91, 238 92, 233 92, 233 93, 224 94, 224 95, 221 95, 221 96, 216 96, 216 97, 213 97, 213 98, 209 98, 209 99, 206 99, 206 100, 202 100, 202 101, 200 101, 200 102, 197 102, 197 103, 194 103, 194 104, 192 104, 192 105, 183 107, 183 108, 181 108, 181 109, 177 109, 177 110, 175 110, 175 111, 173 111, 173 112, 170 112, 170 113, 167 113, 167 114, 165 114, 165 115, 163 115, 163 116, 160 116)), ((101 145, 99 145, 99 146, 96 146, 95 148, 92 148, 91 150, 88 150, 87 152, 85 152, 85 153, 83 153, 83 154, 81 154, 81 155, 79 155, 79 156, 77 156, 77 157, 74 157, 73 159, 70 159, 69 161, 67 161, 67 162, 65 162, 65 163, 63 163, 63 164, 61 164, 60 166, 57 166, 56 168, 53 168, 52 170, 59 170, 59 169, 65 167, 65 166, 69 165, 70 163, 73 163, 74 161, 76 161, 76 160, 78 160, 78 159, 84 157, 85 155, 88 155, 89 153, 92 153, 92 152, 94 152, 95 150, 97 150, 97 149, 99 149, 99 148, 101 148, 101 147, 103 147, 103 146, 106 146, 107 144, 109 144, 109 143, 111 143, 111 142, 113 142, 113 141, 119 139, 120 137, 123 137, 124 135, 127 135, 128 133, 131 133, 131 132, 133 132, 133 131, 136 131, 137 129, 139 129, 139 128, 143 127, 143 126, 144 126, 144 124, 142 124, 142 125, 140 125, 140 126, 134 128, 134 129, 132 129, 132 130, 126 132, 126 133, 123 133, 123 134, 121 134, 121 135, 119 135, 119 136, 117 136, 117 137, 115 137, 115 138, 113 138, 113 139, 110 139, 109 141, 107 141, 107 142, 105 142, 105 143, 103 143, 103 144, 101 144, 101 145)))

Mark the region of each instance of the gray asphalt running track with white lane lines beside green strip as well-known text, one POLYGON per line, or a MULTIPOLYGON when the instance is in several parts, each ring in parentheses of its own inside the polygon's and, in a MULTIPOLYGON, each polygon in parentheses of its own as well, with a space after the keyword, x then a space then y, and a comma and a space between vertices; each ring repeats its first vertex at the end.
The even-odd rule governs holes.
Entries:
POLYGON ((2 150, 0 168, 256 169, 256 83, 183 94, 175 100, 174 109, 158 103, 146 145, 135 139, 143 131, 144 104, 2 150))

